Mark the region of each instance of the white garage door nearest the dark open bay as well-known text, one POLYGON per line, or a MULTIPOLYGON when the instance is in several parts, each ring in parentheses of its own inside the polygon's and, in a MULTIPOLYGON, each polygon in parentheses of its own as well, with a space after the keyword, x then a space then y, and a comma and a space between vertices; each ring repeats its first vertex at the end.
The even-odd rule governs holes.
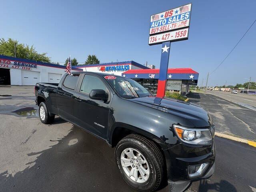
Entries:
POLYGON ((21 70, 22 85, 36 85, 40 82, 40 72, 21 70))

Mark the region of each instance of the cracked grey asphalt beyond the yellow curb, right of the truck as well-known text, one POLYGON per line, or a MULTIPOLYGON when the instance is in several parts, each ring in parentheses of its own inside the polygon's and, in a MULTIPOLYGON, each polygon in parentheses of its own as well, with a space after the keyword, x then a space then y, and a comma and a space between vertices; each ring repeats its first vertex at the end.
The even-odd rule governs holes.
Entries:
POLYGON ((191 93, 188 98, 208 110, 217 132, 256 140, 256 111, 212 94, 191 93))

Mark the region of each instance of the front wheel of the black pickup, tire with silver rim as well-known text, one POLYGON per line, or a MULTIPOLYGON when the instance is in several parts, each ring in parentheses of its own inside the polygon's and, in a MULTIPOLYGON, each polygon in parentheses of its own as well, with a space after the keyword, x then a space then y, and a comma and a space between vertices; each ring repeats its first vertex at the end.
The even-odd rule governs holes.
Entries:
POLYGON ((116 146, 115 160, 123 179, 138 191, 153 192, 157 190, 163 180, 162 153, 153 141, 142 136, 130 134, 120 140, 116 146), (133 159, 131 159, 131 154, 133 159), (129 176, 129 172, 133 174, 129 176), (144 174, 143 176, 141 172, 144 174))

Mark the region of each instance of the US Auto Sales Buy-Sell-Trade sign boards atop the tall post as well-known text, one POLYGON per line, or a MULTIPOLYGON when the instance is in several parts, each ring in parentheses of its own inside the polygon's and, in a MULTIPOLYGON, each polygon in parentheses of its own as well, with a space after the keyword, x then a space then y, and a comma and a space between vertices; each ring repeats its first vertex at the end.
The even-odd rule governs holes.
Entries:
POLYGON ((173 42, 188 39, 191 8, 192 4, 190 3, 150 16, 148 44, 153 45, 166 41, 173 42))

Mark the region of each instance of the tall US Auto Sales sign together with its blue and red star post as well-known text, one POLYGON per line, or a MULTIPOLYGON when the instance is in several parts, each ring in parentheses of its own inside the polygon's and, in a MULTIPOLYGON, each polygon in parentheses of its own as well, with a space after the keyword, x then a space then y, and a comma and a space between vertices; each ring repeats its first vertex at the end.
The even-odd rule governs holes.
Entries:
POLYGON ((157 98, 165 95, 171 42, 188 39, 191 8, 187 4, 150 17, 148 44, 162 44, 157 98))

